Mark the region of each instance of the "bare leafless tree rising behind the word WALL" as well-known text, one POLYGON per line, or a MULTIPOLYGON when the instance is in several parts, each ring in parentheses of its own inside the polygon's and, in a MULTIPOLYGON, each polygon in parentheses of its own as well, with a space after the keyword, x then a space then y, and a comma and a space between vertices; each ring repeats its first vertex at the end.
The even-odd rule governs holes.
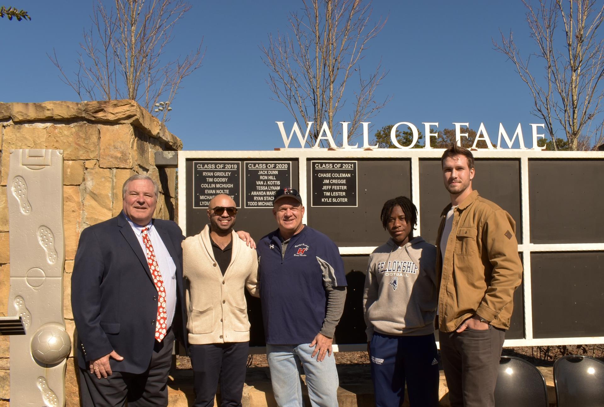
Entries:
MULTIPOLYGON (((386 21, 371 25, 371 2, 361 0, 302 0, 300 13, 288 18, 291 36, 269 35, 261 46, 269 68, 266 80, 274 100, 281 102, 300 128, 314 122, 309 145, 319 137, 323 122, 335 131, 333 122, 353 97, 349 116, 349 140, 358 136, 361 122, 373 117, 390 101, 374 100, 377 86, 386 76, 381 63, 367 77, 361 76, 360 62, 368 42, 386 21), (358 86, 350 91, 349 79, 358 75, 358 86)), ((335 134, 334 134, 335 135, 335 134)))

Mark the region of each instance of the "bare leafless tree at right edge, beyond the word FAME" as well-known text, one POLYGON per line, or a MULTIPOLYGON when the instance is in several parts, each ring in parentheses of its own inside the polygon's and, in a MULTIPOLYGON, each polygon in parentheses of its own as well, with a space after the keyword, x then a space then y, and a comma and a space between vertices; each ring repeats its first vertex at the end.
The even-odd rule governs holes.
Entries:
POLYGON ((556 129, 564 131, 571 150, 590 149, 591 141, 602 134, 601 125, 590 130, 590 123, 602 112, 604 97, 600 84, 604 39, 598 33, 604 4, 600 6, 597 0, 539 0, 536 6, 522 2, 538 52, 523 59, 511 32, 509 37, 501 33, 500 43, 493 40, 495 50, 512 61, 528 86, 532 113, 544 120, 554 149, 558 149, 556 129), (530 65, 532 57, 543 61, 543 66, 530 65), (545 75, 540 77, 542 72, 545 75))

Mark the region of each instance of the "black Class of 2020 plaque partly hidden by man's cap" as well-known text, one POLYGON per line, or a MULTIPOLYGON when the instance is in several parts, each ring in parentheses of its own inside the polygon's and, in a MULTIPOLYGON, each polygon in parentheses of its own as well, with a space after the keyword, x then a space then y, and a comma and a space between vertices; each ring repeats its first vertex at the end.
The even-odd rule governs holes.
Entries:
POLYGON ((292 186, 291 161, 246 161, 245 207, 272 207, 275 191, 292 186))

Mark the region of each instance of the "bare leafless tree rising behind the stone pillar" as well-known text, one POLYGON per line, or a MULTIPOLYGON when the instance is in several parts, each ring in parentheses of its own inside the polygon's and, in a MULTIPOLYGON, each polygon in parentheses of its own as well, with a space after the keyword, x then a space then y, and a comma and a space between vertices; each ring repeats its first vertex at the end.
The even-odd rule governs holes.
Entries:
POLYGON ((166 121, 168 110, 155 112, 155 103, 172 103, 182 80, 201 67, 204 58, 203 39, 184 59, 162 58, 173 28, 190 9, 182 0, 115 0, 115 7, 108 10, 96 0, 73 79, 63 71, 56 53, 49 58, 80 100, 132 99, 166 121))

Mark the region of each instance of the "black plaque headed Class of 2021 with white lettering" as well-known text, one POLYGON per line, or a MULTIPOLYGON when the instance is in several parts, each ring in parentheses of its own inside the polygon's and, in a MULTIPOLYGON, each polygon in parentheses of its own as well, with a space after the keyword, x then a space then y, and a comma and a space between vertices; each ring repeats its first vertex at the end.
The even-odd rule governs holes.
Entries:
POLYGON ((310 161, 310 206, 358 206, 356 161, 310 161))

